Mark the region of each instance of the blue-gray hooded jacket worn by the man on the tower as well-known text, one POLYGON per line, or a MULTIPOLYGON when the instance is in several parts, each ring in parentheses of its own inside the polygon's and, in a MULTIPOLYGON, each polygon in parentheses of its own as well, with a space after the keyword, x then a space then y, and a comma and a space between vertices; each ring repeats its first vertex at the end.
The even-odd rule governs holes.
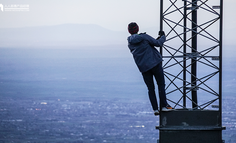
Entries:
POLYGON ((162 62, 162 56, 154 46, 160 47, 165 41, 165 36, 156 40, 146 33, 128 37, 128 47, 140 72, 146 72, 162 62))

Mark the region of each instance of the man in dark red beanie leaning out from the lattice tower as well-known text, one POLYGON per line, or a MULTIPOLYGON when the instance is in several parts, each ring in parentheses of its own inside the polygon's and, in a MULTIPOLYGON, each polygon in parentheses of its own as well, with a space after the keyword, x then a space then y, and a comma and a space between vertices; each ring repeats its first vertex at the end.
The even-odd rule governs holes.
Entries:
POLYGON ((155 77, 160 107, 162 111, 170 111, 172 107, 166 101, 165 79, 162 68, 162 56, 154 47, 160 47, 166 40, 165 33, 159 32, 159 37, 154 39, 146 33, 138 34, 139 27, 135 22, 128 25, 128 31, 131 36, 128 37, 128 47, 133 54, 134 61, 148 88, 149 99, 155 115, 159 115, 158 104, 155 93, 153 77, 155 77))

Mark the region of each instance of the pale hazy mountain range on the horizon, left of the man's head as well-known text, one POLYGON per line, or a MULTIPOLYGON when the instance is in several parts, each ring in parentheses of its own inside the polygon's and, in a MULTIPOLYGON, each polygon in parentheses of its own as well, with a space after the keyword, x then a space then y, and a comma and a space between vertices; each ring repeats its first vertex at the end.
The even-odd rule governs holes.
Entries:
POLYGON ((125 43, 128 32, 92 24, 1 28, 0 47, 94 46, 125 43))

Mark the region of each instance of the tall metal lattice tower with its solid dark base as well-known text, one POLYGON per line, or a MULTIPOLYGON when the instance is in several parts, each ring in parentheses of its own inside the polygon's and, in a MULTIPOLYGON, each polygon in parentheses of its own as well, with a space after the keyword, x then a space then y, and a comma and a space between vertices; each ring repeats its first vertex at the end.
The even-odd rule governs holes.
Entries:
POLYGON ((223 0, 160 3, 166 93, 177 109, 161 113, 160 143, 222 142, 223 0))

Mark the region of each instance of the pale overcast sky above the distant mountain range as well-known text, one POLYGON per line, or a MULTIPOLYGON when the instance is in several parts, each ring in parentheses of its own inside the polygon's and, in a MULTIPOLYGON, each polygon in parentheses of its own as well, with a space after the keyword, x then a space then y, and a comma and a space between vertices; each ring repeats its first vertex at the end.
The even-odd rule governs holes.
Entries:
MULTIPOLYGON (((160 0, 0 0, 0 4, 29 6, 27 12, 0 11, 0 28, 75 23, 125 31, 132 21, 140 31, 159 27, 160 0)), ((235 0, 224 1, 224 43, 229 45, 236 44, 235 5, 235 0)))

